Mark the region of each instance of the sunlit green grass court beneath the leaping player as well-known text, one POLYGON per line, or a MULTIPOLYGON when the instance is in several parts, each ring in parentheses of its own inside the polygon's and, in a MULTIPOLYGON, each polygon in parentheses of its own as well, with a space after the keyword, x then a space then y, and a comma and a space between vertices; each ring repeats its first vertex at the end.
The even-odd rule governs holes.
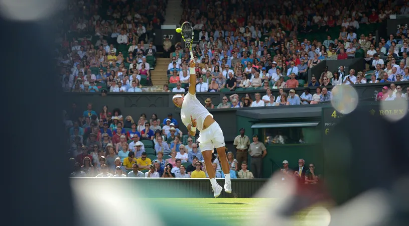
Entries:
MULTIPOLYGON (((275 198, 167 198, 174 205, 186 207, 188 212, 200 214, 202 219, 211 219, 222 225, 252 225, 260 215, 269 214, 275 198)), ((310 209, 299 212, 294 218, 298 225, 316 225, 311 218, 306 219, 310 209)), ((320 215, 314 218, 319 219, 320 215)))

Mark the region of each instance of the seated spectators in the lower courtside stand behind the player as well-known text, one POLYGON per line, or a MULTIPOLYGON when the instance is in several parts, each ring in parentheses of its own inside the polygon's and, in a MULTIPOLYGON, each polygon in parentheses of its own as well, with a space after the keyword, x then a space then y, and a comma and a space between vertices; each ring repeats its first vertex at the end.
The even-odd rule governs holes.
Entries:
MULTIPOLYGON (((63 122, 69 135, 68 155, 73 177, 208 177, 200 143, 196 137, 178 129, 172 114, 163 121, 156 114, 150 119, 142 114, 136 122, 131 116, 122 116, 119 108, 110 111, 103 106, 98 114, 92 103, 87 104, 85 111, 73 104, 70 110, 64 111, 63 122)), ((248 138, 246 141, 248 144, 243 147, 250 156, 266 155, 257 136, 251 144, 248 138), (254 148, 257 145, 261 147, 259 150, 254 148)), ((227 148, 226 152, 231 178, 254 178, 247 171, 246 161, 238 162, 227 148)), ((217 154, 213 154, 212 162, 219 172, 216 177, 222 178, 217 154)), ((261 178, 260 163, 252 161, 251 164, 255 177, 261 178)))

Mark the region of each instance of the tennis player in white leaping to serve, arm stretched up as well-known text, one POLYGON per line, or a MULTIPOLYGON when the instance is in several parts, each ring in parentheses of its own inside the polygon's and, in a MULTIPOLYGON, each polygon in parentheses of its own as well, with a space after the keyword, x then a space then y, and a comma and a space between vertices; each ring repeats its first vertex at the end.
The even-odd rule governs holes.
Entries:
POLYGON ((213 116, 200 103, 196 97, 196 72, 195 62, 190 61, 190 78, 189 78, 189 92, 184 94, 176 94, 173 96, 173 103, 182 108, 180 115, 183 124, 188 128, 189 134, 196 135, 196 130, 200 131, 198 141, 200 142, 200 149, 205 160, 207 174, 212 184, 214 197, 217 198, 222 187, 216 182, 216 172, 212 165, 212 152, 214 148, 219 155, 221 168, 224 173, 224 191, 231 193, 230 169, 227 162, 224 136, 219 124, 214 121, 213 116))

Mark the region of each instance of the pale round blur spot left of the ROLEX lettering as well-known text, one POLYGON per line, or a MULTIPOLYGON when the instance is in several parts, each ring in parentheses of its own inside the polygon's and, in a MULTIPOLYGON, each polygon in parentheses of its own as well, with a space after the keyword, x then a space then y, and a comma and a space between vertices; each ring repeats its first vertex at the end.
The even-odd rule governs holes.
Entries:
POLYGON ((336 85, 331 90, 331 105, 342 114, 349 114, 358 105, 358 93, 350 85, 336 85))

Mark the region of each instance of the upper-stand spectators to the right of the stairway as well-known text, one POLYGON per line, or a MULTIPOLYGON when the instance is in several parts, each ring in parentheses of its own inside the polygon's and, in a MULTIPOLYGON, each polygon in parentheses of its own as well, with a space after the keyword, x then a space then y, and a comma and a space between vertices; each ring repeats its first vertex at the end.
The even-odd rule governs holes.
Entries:
MULTIPOLYGON (((405 3, 286 1, 270 6, 256 1, 250 7, 236 0, 183 3, 180 23, 190 21, 198 39, 193 48, 197 92, 389 81, 384 74, 391 81, 409 79, 405 71, 409 66, 407 25, 379 43, 374 30, 360 29, 391 14, 406 14, 409 6, 405 3), (336 36, 326 35, 330 30, 336 36), (323 36, 309 39, 311 33, 323 36), (348 73, 341 65, 333 72, 326 68, 306 83, 308 69, 321 61, 355 57, 368 64, 364 70, 355 74, 353 68, 348 73), (378 64, 386 73, 378 73, 378 64)), ((163 91, 183 92, 189 84, 190 55, 187 48, 175 47, 168 66, 169 85, 163 91)))

